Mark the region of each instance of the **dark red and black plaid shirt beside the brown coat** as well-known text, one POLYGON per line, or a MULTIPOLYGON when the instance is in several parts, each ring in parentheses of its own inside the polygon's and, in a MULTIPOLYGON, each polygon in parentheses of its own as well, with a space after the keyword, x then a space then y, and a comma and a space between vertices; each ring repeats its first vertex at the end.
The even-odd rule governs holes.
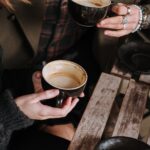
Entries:
POLYGON ((46 6, 37 62, 50 61, 70 51, 87 31, 69 16, 67 0, 47 0, 46 6))

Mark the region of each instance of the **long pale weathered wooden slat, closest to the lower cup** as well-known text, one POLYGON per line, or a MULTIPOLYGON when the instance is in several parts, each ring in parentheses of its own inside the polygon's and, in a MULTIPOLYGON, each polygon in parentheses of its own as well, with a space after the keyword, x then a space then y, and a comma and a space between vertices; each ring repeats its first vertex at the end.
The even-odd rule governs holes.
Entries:
POLYGON ((108 120, 121 78, 102 73, 69 150, 93 150, 108 120))

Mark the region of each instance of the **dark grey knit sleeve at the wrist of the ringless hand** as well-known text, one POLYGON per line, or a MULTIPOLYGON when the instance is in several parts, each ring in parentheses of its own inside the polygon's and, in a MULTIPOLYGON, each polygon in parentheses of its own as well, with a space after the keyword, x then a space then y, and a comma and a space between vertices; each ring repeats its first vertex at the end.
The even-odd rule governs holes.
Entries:
POLYGON ((17 107, 10 91, 0 95, 0 150, 6 150, 12 131, 30 126, 27 118, 17 107))

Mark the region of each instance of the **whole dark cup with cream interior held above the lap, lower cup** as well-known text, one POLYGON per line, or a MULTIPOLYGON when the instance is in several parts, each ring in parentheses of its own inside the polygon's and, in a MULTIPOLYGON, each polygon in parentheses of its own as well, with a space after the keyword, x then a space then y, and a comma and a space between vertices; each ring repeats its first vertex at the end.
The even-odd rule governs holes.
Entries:
MULTIPOLYGON (((85 88, 88 76, 83 67, 67 60, 51 61, 42 69, 43 88, 60 90, 55 106, 61 107, 67 97, 78 97, 85 88)), ((53 105, 53 106, 54 106, 53 105)))

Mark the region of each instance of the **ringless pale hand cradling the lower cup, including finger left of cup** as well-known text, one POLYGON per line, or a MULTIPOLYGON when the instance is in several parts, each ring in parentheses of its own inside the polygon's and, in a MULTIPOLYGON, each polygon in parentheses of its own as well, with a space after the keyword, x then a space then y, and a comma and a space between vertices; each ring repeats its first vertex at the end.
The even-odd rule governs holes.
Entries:
POLYGON ((46 99, 51 100, 56 97, 59 94, 59 90, 43 91, 39 72, 33 75, 33 84, 37 93, 21 96, 15 100, 19 109, 30 119, 44 120, 65 117, 79 101, 78 98, 68 97, 61 108, 44 105, 41 101, 46 99))

